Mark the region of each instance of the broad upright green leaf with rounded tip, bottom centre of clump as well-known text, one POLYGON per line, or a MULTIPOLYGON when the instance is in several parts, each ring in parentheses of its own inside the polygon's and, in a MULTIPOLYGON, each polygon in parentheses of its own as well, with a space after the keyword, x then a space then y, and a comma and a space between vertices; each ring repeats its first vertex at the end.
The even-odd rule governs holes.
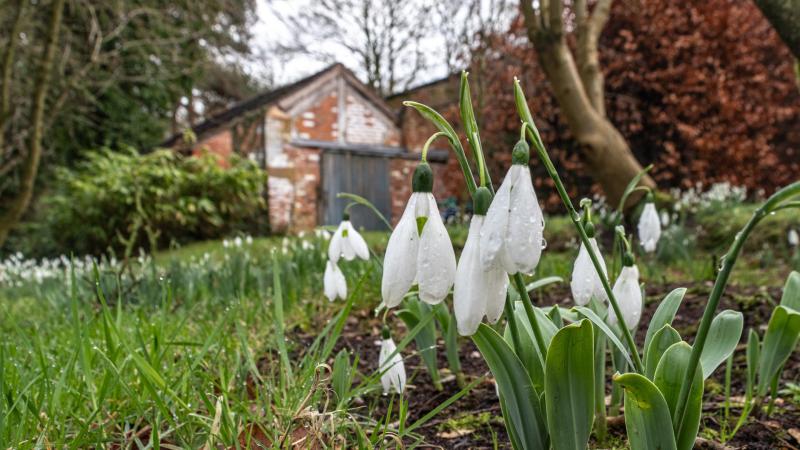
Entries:
POLYGON ((544 396, 554 450, 584 450, 594 420, 594 331, 582 320, 559 330, 547 350, 544 396))

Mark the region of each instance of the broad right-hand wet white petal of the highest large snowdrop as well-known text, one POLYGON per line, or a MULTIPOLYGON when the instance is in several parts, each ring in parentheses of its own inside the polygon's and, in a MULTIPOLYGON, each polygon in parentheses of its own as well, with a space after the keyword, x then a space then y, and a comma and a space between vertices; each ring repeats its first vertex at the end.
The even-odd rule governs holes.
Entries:
POLYGON ((542 209, 533 190, 530 169, 518 164, 513 168, 519 173, 511 189, 511 210, 508 216, 506 248, 515 269, 509 273, 532 273, 542 255, 542 209))

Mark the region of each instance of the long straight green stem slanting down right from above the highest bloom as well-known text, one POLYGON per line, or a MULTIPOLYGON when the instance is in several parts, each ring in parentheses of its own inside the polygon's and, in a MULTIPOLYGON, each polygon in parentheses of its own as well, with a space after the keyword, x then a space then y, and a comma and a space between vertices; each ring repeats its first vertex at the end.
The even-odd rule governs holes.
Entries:
MULTIPOLYGON (((564 206, 567 207, 567 212, 569 213, 570 219, 572 223, 575 225, 575 228, 578 230, 578 234, 580 235, 581 242, 583 243, 584 247, 586 248, 587 253, 589 254, 589 258, 592 260, 592 265, 594 269, 597 271, 597 274, 600 276, 600 281, 603 284, 603 289, 606 291, 606 295, 608 295, 608 301, 611 303, 611 307, 614 310, 614 314, 617 315, 617 320, 620 323, 625 323, 622 316, 622 310, 619 307, 619 303, 617 302, 616 297, 614 296, 614 292, 611 290, 611 285, 608 282, 608 277, 603 276, 603 270, 600 266, 600 260, 598 259, 597 255, 592 249, 592 246, 589 244, 589 237, 586 236, 586 230, 581 223, 581 216, 578 214, 578 211, 575 210, 575 206, 572 204, 572 200, 569 198, 569 194, 567 194, 567 190, 564 188, 564 183, 561 182, 561 177, 558 176, 558 172, 556 171, 553 162, 550 160, 550 156, 547 154, 547 150, 544 148, 544 143, 542 142, 541 136, 539 136, 539 132, 536 129, 536 125, 533 122, 533 117, 531 116, 531 112, 528 109, 528 103, 525 100, 525 94, 522 93, 522 88, 519 85, 519 80, 514 80, 514 97, 517 102, 517 109, 519 110, 520 116, 522 116, 523 122, 528 123, 527 131, 528 136, 534 143, 536 147, 536 153, 539 155, 539 159, 544 164, 547 173, 550 175, 550 178, 556 184, 556 190, 558 191, 558 195, 561 197, 561 201, 564 203, 564 206)), ((642 359, 639 356, 639 350, 636 348, 636 342, 633 340, 633 336, 631 335, 630 330, 627 327, 620 327, 622 329, 622 336, 625 338, 625 343, 628 346, 628 349, 633 354, 633 364, 635 366, 636 372, 639 374, 644 374, 644 365, 642 364, 642 359)), ((694 373, 694 372, 689 372, 694 373)), ((688 391, 687 391, 688 394, 688 391)))

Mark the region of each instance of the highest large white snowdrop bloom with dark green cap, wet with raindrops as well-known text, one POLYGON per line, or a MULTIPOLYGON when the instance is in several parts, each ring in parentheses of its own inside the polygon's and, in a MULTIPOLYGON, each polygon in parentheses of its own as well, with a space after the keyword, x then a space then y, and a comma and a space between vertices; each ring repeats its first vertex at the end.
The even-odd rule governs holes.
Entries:
POLYGON ((532 273, 539 264, 544 219, 528 168, 528 144, 520 140, 512 164, 486 213, 480 258, 484 270, 500 266, 506 272, 532 273))

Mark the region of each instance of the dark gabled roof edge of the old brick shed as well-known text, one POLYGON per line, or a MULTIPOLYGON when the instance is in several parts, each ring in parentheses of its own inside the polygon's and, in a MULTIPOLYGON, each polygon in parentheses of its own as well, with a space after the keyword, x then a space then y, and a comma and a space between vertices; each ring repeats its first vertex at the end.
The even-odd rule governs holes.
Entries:
MULTIPOLYGON (((294 83, 279 87, 271 91, 263 92, 261 94, 256 95, 255 97, 251 97, 247 100, 243 100, 239 103, 236 103, 230 108, 222 112, 219 112, 211 116, 210 118, 204 120, 203 122, 200 122, 199 124, 193 126, 192 132, 197 137, 198 141, 202 140, 203 138, 212 134, 214 131, 217 131, 227 125, 230 125, 231 123, 235 122, 238 118, 243 117, 250 112, 263 109, 272 104, 276 104, 280 102, 282 99, 296 92, 299 92, 303 88, 310 86, 312 83, 323 78, 327 74, 335 76, 333 72, 341 74, 345 79, 347 79, 350 82, 350 84, 360 94, 369 99, 373 104, 375 104, 376 107, 378 107, 384 114, 386 114, 393 121, 396 119, 395 114, 386 105, 386 103, 380 96, 375 94, 369 87, 361 83, 350 70, 344 67, 344 65, 342 65, 341 63, 336 63, 320 70, 315 74, 309 75, 305 78, 295 81, 294 83)), ((167 148, 174 147, 177 143, 181 141, 181 139, 183 139, 183 133, 176 133, 170 136, 164 142, 162 142, 161 146, 167 148)))

